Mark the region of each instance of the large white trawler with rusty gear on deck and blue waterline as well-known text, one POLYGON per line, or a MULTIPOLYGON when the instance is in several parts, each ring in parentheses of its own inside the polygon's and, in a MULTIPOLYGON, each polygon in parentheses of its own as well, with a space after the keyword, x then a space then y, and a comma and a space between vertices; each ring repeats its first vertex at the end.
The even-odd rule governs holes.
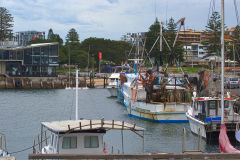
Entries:
POLYGON ((187 123, 191 91, 176 76, 151 71, 126 74, 123 95, 128 115, 158 123, 187 123))

